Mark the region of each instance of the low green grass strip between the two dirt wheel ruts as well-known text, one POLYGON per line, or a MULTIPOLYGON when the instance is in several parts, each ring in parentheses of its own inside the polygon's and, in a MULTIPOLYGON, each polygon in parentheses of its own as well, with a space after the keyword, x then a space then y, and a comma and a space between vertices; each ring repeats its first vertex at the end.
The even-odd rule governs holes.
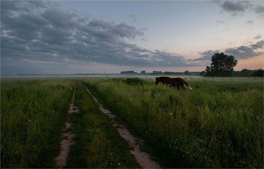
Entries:
POLYGON ((76 133, 76 144, 72 146, 69 163, 64 168, 140 168, 110 118, 101 112, 83 85, 76 85, 75 103, 79 113, 71 114, 69 118, 74 124, 72 131, 76 133))

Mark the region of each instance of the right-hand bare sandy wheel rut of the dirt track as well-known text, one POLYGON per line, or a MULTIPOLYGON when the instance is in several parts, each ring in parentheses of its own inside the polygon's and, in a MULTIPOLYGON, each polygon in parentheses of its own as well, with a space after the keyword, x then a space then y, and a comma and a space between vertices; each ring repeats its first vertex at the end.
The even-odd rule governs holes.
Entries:
MULTIPOLYGON (((79 82, 82 84, 81 82, 79 82)), ((83 84, 82 84, 83 85, 83 84)), ((86 86, 83 85, 85 88, 86 86)), ((129 142, 130 147, 133 147, 133 150, 130 150, 131 154, 133 154, 139 163, 139 165, 142 168, 161 168, 155 161, 150 160, 150 156, 145 153, 140 151, 140 145, 142 144, 141 140, 133 137, 130 132, 122 125, 118 125, 116 121, 114 120, 115 115, 111 114, 111 112, 107 109, 103 108, 103 105, 101 105, 98 100, 91 94, 89 89, 87 89, 87 92, 92 96, 92 98, 95 100, 95 102, 99 105, 100 110, 104 113, 107 114, 109 117, 112 119, 112 124, 113 126, 117 127, 117 131, 120 133, 120 135, 129 142), (139 141, 138 141, 139 140, 139 141)))

